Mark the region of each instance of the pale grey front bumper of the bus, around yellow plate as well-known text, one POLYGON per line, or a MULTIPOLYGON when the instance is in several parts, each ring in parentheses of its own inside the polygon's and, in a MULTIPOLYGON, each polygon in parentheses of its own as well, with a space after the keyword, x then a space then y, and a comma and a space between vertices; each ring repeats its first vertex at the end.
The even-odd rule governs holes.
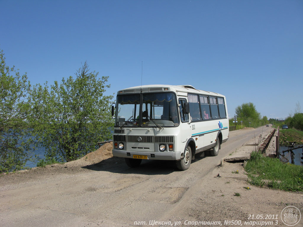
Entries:
POLYGON ((181 151, 177 152, 140 152, 129 150, 112 150, 114 157, 133 158, 133 155, 147 156, 148 160, 180 160, 181 151))

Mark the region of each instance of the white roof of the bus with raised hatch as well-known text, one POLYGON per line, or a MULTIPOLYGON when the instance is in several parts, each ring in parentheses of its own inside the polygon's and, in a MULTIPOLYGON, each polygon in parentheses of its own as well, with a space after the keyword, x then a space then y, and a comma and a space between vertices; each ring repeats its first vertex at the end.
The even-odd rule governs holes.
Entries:
POLYGON ((214 96, 222 96, 224 95, 205 91, 198 90, 191 85, 166 85, 166 84, 151 84, 151 85, 142 85, 136 87, 129 87, 118 91, 118 94, 129 94, 129 93, 141 93, 141 92, 158 92, 158 91, 174 91, 174 92, 185 92, 185 93, 198 93, 205 95, 214 95, 214 96))

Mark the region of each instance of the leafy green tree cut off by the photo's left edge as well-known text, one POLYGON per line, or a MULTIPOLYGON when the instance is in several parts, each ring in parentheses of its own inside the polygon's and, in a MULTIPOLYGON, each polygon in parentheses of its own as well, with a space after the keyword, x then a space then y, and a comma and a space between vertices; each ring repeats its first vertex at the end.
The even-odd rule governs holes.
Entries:
POLYGON ((0 173, 23 169, 32 159, 31 85, 5 64, 0 50, 0 173))

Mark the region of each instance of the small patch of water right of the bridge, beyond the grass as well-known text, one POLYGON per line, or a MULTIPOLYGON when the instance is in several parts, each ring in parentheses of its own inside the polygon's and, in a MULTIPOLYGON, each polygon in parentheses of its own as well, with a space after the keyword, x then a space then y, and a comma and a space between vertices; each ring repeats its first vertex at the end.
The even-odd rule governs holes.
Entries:
MULTIPOLYGON (((295 145, 294 148, 302 146, 302 144, 295 145)), ((303 166, 303 148, 294 149, 292 151, 284 152, 290 149, 288 146, 279 146, 279 159, 284 163, 291 163, 298 166, 303 166)))

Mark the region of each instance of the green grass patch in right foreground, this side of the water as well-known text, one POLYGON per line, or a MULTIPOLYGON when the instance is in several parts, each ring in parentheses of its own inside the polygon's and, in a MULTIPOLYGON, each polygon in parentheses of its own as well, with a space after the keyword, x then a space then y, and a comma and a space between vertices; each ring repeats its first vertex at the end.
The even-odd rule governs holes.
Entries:
POLYGON ((245 170, 248 182, 284 191, 303 191, 303 167, 282 163, 279 159, 252 152, 245 170))

